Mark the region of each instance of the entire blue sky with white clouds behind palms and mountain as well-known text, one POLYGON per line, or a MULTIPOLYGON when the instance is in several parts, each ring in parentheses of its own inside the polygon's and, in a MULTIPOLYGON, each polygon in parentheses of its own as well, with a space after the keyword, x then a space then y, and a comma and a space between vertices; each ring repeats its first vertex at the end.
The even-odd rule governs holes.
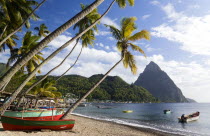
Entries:
MULTIPOLYGON (((40 0, 41 1, 41 0, 40 0)), ((40 2, 39 1, 39 2, 40 2)), ((31 21, 34 27, 45 23, 52 32, 80 11, 80 3, 90 4, 93 0, 47 0, 36 12, 40 19, 31 21)), ((105 0, 99 7, 99 13, 107 9, 111 0, 105 0)), ((77 65, 67 74, 90 77, 93 74, 106 73, 119 59, 116 40, 104 24, 120 27, 123 17, 137 17, 136 32, 146 29, 151 33, 151 40, 139 40, 135 44, 146 53, 146 58, 137 52, 135 55, 138 72, 133 75, 130 69, 120 64, 110 75, 120 76, 128 83, 137 80, 150 61, 157 63, 187 98, 198 102, 210 102, 210 1, 209 0, 135 0, 135 6, 119 8, 115 3, 111 11, 98 25, 94 47, 84 48, 77 65)), ((27 30, 19 32, 21 37, 27 30)), ((50 42, 42 52, 46 58, 58 47, 70 40, 77 30, 72 28, 50 42)), ((74 44, 74 43, 73 43, 74 44)), ((45 74, 59 64, 71 50, 69 45, 42 68, 45 74)), ((18 42, 18 46, 21 42, 18 42)), ((69 59, 52 75, 61 75, 75 61, 81 43, 69 59)), ((7 62, 9 50, 0 53, 0 62, 7 62)))

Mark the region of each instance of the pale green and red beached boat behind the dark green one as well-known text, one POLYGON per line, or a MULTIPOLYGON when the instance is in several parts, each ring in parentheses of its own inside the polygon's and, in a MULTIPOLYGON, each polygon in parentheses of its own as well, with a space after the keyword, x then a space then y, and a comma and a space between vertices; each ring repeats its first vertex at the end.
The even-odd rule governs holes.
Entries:
POLYGON ((27 110, 27 111, 6 111, 4 116, 37 119, 37 120, 58 120, 64 114, 63 110, 27 110))

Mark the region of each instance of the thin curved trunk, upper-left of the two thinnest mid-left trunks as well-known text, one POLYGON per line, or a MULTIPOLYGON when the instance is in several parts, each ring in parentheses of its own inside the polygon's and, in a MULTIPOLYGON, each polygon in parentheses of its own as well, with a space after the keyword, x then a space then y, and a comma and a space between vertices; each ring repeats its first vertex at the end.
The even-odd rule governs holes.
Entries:
POLYGON ((63 61, 61 61, 60 64, 58 64, 57 66, 55 66, 53 69, 51 69, 47 74, 45 74, 39 81, 37 81, 36 83, 34 83, 31 87, 29 87, 25 92, 23 92, 21 95, 23 96, 24 94, 27 94, 31 89, 33 89, 35 86, 37 86, 40 82, 42 82, 45 78, 48 77, 48 75, 53 72, 54 70, 56 70, 57 68, 59 68, 65 61, 66 59, 71 55, 71 53, 74 51, 75 47, 77 46, 79 39, 77 39, 74 47, 71 49, 71 51, 68 53, 68 55, 66 55, 66 57, 63 59, 63 61))

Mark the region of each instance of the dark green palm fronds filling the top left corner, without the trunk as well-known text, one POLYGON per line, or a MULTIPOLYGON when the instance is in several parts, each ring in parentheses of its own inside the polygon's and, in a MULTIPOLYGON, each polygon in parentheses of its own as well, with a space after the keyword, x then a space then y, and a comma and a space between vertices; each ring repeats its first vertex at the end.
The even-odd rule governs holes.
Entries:
MULTIPOLYGON (((0 0, 0 41, 15 31, 33 11, 33 7, 37 5, 38 3, 34 0, 0 0)), ((36 14, 32 14, 30 19, 37 20, 38 18, 36 14)), ((25 26, 26 28, 30 27, 29 20, 25 26)), ((12 50, 16 46, 15 40, 17 39, 17 35, 11 36, 0 46, 0 51, 4 50, 6 46, 12 50)))

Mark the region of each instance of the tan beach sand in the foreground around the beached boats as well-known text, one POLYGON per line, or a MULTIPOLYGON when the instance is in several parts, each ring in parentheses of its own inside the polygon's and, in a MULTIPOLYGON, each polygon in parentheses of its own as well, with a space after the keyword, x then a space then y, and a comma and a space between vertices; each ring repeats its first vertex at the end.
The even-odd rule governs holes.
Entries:
POLYGON ((150 129, 129 127, 76 115, 70 115, 69 118, 75 119, 75 126, 71 131, 4 131, 0 124, 0 136, 171 136, 171 134, 150 129))

